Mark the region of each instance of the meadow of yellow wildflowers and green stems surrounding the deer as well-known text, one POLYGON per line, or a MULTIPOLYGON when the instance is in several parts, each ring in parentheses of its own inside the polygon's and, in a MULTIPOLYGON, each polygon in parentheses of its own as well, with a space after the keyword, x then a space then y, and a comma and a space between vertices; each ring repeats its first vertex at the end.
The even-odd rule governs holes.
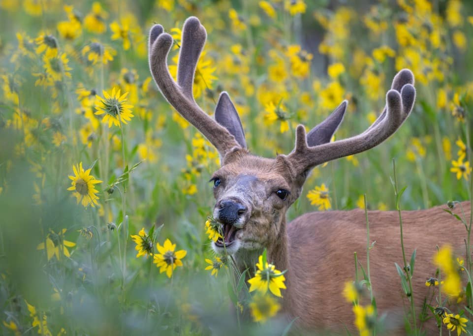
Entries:
MULTIPOLYGON (((213 115, 228 92, 264 157, 290 153, 297 125, 344 99, 332 141, 363 132, 393 76, 413 72, 400 130, 317 166, 287 217, 443 205, 465 245, 439 244, 430 274, 415 272, 415 252, 371 274, 399 279, 406 335, 473 335, 473 209, 459 203, 473 190, 473 3, 460 0, 0 0, 0 334, 299 335, 282 314, 286 270, 264 251, 242 273, 213 251, 219 153, 150 74, 150 28, 174 38, 176 78, 190 16, 208 35, 195 101, 213 115), (429 287, 422 311, 412 277, 429 287)), ((383 335, 370 269, 355 275, 356 262, 331 265, 353 277, 329 295, 352 309, 347 335, 383 335)))

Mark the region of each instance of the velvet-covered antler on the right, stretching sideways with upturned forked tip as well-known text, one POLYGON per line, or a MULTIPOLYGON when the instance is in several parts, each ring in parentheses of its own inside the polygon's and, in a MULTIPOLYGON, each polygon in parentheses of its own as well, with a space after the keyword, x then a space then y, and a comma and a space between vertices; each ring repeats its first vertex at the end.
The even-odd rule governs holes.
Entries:
POLYGON ((386 94, 385 112, 381 114, 375 122, 376 124, 373 124, 359 135, 332 143, 308 147, 305 128, 303 125, 299 125, 296 130, 295 149, 288 155, 288 159, 294 164, 295 170, 301 174, 321 163, 364 152, 377 146, 396 132, 409 116, 415 100, 415 89, 412 84, 405 84, 406 78, 409 77, 405 75, 406 72, 400 72, 395 77, 393 89, 389 90, 386 94), (402 89, 399 88, 400 84, 404 84, 402 89), (400 92, 396 90, 398 88, 400 92))

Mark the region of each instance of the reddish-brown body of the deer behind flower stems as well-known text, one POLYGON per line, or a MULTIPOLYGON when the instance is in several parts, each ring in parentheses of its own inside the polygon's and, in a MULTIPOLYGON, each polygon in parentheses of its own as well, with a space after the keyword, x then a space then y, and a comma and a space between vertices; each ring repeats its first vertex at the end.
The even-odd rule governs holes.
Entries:
MULTIPOLYGON (((462 206, 469 214, 470 204, 465 202, 462 206)), ((442 210, 445 208, 402 212, 407 262, 414 249, 417 255, 413 275, 417 314, 429 293, 425 281, 435 276, 436 266, 432 260, 436 246, 457 246, 460 249, 455 251, 456 255, 465 255, 465 249, 461 247, 467 237, 466 229, 460 221, 442 210)), ((461 215, 459 208, 457 206, 453 212, 461 215)), ((370 250, 370 272, 378 311, 387 313, 386 321, 397 329, 403 326, 404 310, 409 309, 394 265, 397 263, 402 267, 404 264, 398 212, 370 211, 368 216, 370 243, 376 241, 370 250)), ((332 329, 339 326, 343 329, 345 325, 350 329, 354 316, 351 304, 343 297, 343 288, 346 281, 352 281, 355 277, 354 252, 357 252, 358 260, 367 271, 364 211, 304 214, 288 224, 287 233, 290 272, 286 295, 288 312, 299 316, 301 325, 310 328, 332 329)), ((358 267, 358 279, 362 277, 358 267)), ((362 304, 369 304, 369 298, 365 298, 362 304)), ((435 301, 432 305, 436 305, 435 301)), ((427 321, 425 327, 435 330, 435 320, 427 321)))

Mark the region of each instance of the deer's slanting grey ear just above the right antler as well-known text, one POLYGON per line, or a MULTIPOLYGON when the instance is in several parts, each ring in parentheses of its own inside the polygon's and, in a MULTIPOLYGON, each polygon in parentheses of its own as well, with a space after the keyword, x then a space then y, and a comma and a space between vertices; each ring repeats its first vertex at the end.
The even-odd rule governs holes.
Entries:
POLYGON ((347 110, 347 100, 344 100, 323 122, 316 125, 307 133, 307 145, 314 147, 330 142, 333 134, 343 121, 343 116, 347 110))

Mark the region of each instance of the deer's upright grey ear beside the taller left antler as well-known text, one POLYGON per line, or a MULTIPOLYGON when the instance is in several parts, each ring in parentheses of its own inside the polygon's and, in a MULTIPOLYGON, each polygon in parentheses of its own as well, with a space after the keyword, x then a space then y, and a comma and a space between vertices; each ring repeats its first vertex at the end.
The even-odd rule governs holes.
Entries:
POLYGON ((235 137, 242 148, 247 148, 240 117, 238 117, 238 112, 226 92, 220 94, 219 102, 215 108, 215 120, 235 137))

